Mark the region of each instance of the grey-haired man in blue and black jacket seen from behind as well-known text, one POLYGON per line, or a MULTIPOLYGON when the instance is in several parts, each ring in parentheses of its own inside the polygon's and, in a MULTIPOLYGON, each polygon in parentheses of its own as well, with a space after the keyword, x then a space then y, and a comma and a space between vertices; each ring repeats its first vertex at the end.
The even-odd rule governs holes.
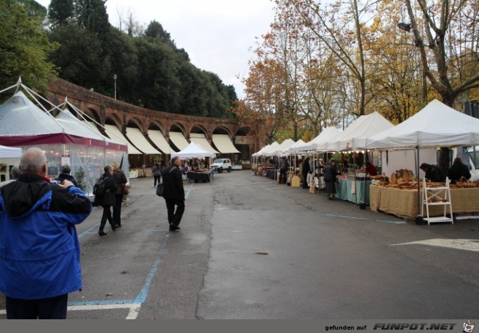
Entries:
POLYGON ((0 291, 8 319, 66 319, 68 293, 81 290, 75 225, 90 199, 64 180, 49 184, 42 150, 27 149, 21 175, 0 189, 0 291))

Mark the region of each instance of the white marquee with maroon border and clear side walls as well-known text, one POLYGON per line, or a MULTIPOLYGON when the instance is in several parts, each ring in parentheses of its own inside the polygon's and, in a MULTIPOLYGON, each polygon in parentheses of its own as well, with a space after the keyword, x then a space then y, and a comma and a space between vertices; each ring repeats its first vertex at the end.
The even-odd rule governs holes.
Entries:
MULTIPOLYGON (((21 86, 34 98, 31 90, 21 86)), ((78 124, 70 123, 69 117, 68 121, 62 117, 53 118, 47 110, 30 101, 23 91, 18 91, 0 106, 0 144, 43 149, 49 161, 48 177, 57 177, 62 164, 70 164, 74 176, 81 169, 84 189, 91 193, 105 164, 120 162, 125 155, 127 158, 127 146, 99 135, 79 120, 78 124)))

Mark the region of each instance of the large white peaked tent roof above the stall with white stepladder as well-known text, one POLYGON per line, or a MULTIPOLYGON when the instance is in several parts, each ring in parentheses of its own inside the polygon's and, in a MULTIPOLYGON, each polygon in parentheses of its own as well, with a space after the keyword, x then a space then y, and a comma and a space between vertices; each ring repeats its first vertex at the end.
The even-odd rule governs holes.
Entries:
POLYGON ((367 139, 367 149, 479 145, 479 119, 437 99, 396 127, 367 139))

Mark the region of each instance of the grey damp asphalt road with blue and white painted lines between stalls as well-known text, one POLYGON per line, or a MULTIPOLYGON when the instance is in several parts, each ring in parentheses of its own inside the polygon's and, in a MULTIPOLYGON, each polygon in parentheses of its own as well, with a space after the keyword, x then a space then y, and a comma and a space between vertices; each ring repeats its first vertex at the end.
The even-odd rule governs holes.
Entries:
MULTIPOLYGON (((68 319, 437 319, 479 313, 479 219, 415 225, 255 175, 184 183, 168 232, 152 178, 123 227, 77 227, 83 290, 68 319)), ((0 318, 5 318, 0 297, 0 318)))

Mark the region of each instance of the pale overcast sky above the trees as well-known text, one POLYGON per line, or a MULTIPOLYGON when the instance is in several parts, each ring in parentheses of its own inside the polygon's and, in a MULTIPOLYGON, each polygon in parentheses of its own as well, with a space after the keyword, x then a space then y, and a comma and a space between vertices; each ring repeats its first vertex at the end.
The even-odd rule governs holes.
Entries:
MULTIPOLYGON (((50 0, 36 0, 45 7, 50 0)), ((244 86, 238 75, 248 74, 255 38, 266 34, 274 19, 270 0, 107 0, 109 21, 118 27, 118 10, 131 10, 137 21, 153 20, 170 33, 194 66, 216 73, 224 84, 233 84, 239 98, 244 86)), ((261 41, 261 40, 260 40, 261 41)))

